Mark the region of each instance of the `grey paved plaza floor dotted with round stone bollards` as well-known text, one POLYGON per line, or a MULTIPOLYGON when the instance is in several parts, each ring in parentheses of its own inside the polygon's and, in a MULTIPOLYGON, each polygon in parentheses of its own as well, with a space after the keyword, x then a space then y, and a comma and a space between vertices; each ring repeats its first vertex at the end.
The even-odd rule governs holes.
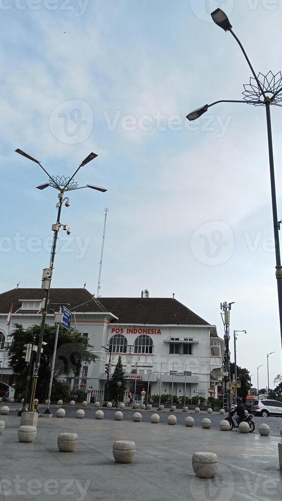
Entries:
POLYGON ((1 416, 0 499, 67 501, 280 501, 282 472, 277 436, 240 434, 184 425, 134 423, 113 419, 38 419, 32 444, 17 439, 20 418, 1 416), (60 432, 77 432, 75 452, 57 448, 60 432), (133 440, 136 453, 129 465, 112 457, 115 440, 133 440), (217 477, 198 479, 193 472, 195 451, 216 452, 217 477))

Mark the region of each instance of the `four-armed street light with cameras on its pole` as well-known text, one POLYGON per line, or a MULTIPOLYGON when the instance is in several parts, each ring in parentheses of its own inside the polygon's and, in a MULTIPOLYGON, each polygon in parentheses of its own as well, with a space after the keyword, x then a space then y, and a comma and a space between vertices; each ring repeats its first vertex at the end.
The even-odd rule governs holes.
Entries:
POLYGON ((50 264, 48 268, 43 269, 43 275, 42 275, 42 285, 41 288, 45 290, 45 299, 44 299, 44 307, 42 310, 42 320, 41 320, 41 327, 40 327, 40 334, 39 334, 39 341, 38 341, 38 348, 37 348, 37 354, 36 354, 36 360, 35 360, 35 365, 34 365, 34 371, 33 371, 33 381, 32 381, 32 392, 31 392, 31 398, 30 398, 30 411, 34 411, 34 398, 35 398, 35 391, 36 391, 36 384, 37 384, 37 379, 38 379, 38 371, 39 371, 39 365, 40 365, 40 355, 41 355, 41 349, 42 349, 42 343, 43 343, 43 337, 44 337, 44 328, 45 328, 45 322, 46 322, 46 315, 47 315, 47 309, 48 309, 48 303, 49 303, 49 293, 50 293, 50 285, 51 285, 51 280, 52 280, 52 273, 53 273, 53 268, 54 268, 54 260, 55 260, 55 255, 56 255, 56 245, 57 245, 57 239, 58 239, 58 233, 59 230, 61 229, 61 226, 63 226, 63 230, 66 231, 67 235, 70 235, 70 230, 67 224, 63 224, 61 222, 61 211, 62 211, 62 206, 63 203, 65 202, 65 206, 69 207, 69 200, 68 197, 64 197, 64 193, 68 191, 73 191, 73 190, 80 190, 82 188, 92 188, 93 190, 98 190, 105 192, 107 191, 105 188, 102 188, 100 186, 93 186, 93 185, 86 185, 86 186, 81 186, 79 187, 76 181, 74 181, 74 176, 77 174, 79 169, 83 167, 84 165, 88 164, 91 162, 91 160, 94 160, 98 155, 96 153, 90 153, 78 166, 77 170, 74 172, 72 177, 65 177, 65 176, 51 176, 49 172, 44 169, 44 167, 41 165, 41 163, 36 160, 33 156, 29 155, 25 151, 22 151, 20 149, 16 149, 16 153, 19 153, 22 156, 25 156, 32 162, 35 162, 38 164, 41 169, 45 172, 45 174, 48 175, 49 178, 49 183, 44 183, 43 185, 37 186, 39 190, 44 190, 45 188, 48 188, 51 186, 52 188, 55 188, 55 190, 58 190, 58 198, 59 201, 56 204, 56 208, 58 209, 58 215, 57 215, 57 221, 55 224, 52 224, 52 231, 54 232, 53 236, 53 242, 52 242, 52 248, 51 248, 51 258, 50 258, 50 264))

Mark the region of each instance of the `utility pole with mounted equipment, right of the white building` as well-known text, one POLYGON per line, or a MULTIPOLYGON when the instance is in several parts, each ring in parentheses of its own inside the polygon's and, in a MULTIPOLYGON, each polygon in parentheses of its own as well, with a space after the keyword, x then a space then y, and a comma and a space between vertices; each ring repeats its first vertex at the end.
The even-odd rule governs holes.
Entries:
POLYGON ((229 323, 230 323, 230 310, 231 305, 234 303, 220 303, 222 311, 221 318, 224 325, 224 356, 223 356, 223 374, 222 374, 222 397, 223 407, 225 411, 229 411, 231 406, 231 378, 230 378, 230 351, 229 351, 229 323))

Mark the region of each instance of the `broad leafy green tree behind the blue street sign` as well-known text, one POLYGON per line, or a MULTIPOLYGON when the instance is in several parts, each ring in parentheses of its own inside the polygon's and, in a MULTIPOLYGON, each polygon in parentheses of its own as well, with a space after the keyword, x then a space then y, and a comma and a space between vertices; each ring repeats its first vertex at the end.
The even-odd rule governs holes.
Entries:
MULTIPOLYGON (((36 398, 39 400, 47 398, 48 395, 55 331, 55 326, 45 325, 44 343, 47 344, 43 346, 43 352, 41 353, 38 383, 36 386, 36 398)), ((33 343, 34 337, 35 345, 37 345, 39 333, 39 325, 24 329, 22 325, 14 324, 14 330, 10 334, 11 345, 8 358, 13 373, 16 376, 16 396, 23 394, 28 371, 28 363, 22 358, 23 345, 33 343)), ((59 328, 51 398, 65 398, 67 395, 66 385, 59 382, 56 377, 65 375, 79 377, 82 363, 95 362, 99 358, 93 354, 92 349, 93 347, 89 345, 87 337, 83 336, 80 332, 75 330, 67 331, 63 327, 59 328)))

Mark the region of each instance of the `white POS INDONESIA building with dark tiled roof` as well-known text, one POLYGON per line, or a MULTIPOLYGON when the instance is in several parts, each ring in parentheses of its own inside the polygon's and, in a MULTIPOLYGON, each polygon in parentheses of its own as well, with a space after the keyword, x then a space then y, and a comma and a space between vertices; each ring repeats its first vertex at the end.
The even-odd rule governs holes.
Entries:
MULTIPOLYGON (((11 383, 12 371, 7 361, 7 316, 13 304, 12 324, 23 327, 41 323, 42 289, 12 289, 0 294, 0 378, 11 383)), ((73 312, 72 326, 88 337, 100 357, 96 363, 82 368, 79 379, 74 378, 71 344, 68 356, 60 356, 65 377, 70 387, 104 390, 109 362, 113 372, 119 355, 128 379, 128 390, 136 393, 145 389, 150 394, 172 393, 181 396, 195 394, 217 397, 221 386, 222 353, 224 343, 217 335, 216 326, 208 324, 189 308, 172 298, 99 298, 86 289, 52 289, 46 322, 54 325, 58 305, 67 305, 73 312), (64 358, 64 361, 62 361, 64 358)))

